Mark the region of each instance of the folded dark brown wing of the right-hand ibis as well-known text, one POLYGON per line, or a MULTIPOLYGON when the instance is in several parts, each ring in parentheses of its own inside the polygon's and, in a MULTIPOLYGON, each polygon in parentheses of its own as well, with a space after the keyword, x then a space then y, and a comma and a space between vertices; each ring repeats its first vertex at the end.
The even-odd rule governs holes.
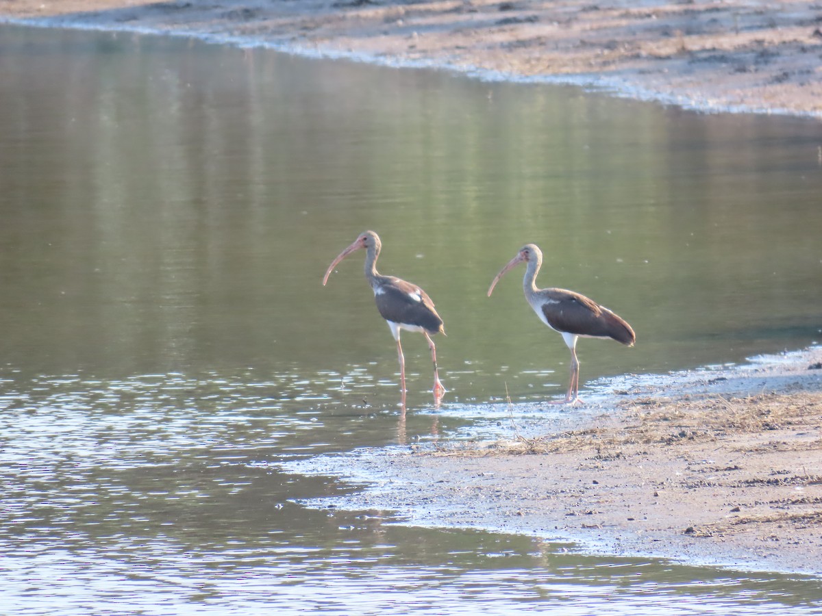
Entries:
POLYGON ((632 346, 636 334, 625 319, 580 293, 566 289, 545 289, 541 296, 547 323, 558 332, 593 338, 613 338, 632 346))

